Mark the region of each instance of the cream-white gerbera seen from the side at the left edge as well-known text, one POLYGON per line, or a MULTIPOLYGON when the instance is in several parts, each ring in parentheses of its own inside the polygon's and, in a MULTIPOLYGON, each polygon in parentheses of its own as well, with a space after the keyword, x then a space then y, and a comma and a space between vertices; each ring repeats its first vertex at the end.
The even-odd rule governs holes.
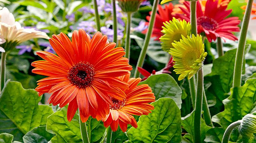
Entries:
POLYGON ((14 16, 6 7, 0 10, 0 18, 0 33, 6 40, 2 47, 6 51, 29 39, 49 38, 45 32, 37 31, 34 28, 24 29, 21 27, 20 23, 15 22, 14 16))

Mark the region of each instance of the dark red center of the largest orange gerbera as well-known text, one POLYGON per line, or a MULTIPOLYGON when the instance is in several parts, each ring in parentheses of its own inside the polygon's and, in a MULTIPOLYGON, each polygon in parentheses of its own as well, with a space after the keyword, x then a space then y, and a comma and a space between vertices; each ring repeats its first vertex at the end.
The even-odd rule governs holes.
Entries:
POLYGON ((79 62, 68 71, 67 79, 70 82, 78 86, 79 88, 85 88, 88 85, 91 85, 94 80, 94 68, 89 62, 79 62))

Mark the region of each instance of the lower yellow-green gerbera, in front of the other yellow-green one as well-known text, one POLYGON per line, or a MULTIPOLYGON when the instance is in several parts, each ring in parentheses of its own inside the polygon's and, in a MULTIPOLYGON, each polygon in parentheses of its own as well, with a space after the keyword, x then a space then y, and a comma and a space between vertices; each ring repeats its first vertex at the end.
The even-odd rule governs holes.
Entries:
POLYGON ((188 76, 190 79, 203 66, 204 59, 207 55, 204 52, 202 36, 192 35, 192 37, 182 35, 180 42, 172 43, 174 48, 170 49, 170 54, 175 61, 176 74, 180 74, 178 80, 188 76))

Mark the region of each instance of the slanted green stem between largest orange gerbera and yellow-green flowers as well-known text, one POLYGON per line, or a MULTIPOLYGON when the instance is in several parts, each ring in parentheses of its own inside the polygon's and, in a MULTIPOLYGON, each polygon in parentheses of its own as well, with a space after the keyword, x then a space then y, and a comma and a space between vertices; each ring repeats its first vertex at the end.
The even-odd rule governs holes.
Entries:
POLYGON ((138 67, 142 67, 143 62, 144 62, 145 57, 146 57, 146 51, 147 51, 147 48, 148 48, 148 44, 149 44, 149 41, 150 41, 150 37, 151 37, 151 34, 152 34, 153 27, 154 27, 154 24, 155 24, 155 13, 157 11, 158 3, 159 3, 159 0, 154 0, 154 4, 153 4, 153 7, 152 7, 153 8, 152 13, 151 13, 150 20, 149 20, 148 31, 147 31, 143 46, 142 46, 141 51, 140 51, 140 56, 139 56, 139 60, 137 62, 136 68, 135 68, 134 77, 139 77, 140 76, 140 72, 138 71, 138 67))

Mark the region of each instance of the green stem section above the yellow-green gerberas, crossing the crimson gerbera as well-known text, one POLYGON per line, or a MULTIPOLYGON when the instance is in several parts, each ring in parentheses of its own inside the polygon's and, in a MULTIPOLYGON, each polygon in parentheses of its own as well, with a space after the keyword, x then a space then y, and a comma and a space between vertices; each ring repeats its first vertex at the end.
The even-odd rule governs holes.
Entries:
POLYGON ((196 26, 196 1, 190 1, 190 23, 191 23, 191 34, 197 35, 196 26))

